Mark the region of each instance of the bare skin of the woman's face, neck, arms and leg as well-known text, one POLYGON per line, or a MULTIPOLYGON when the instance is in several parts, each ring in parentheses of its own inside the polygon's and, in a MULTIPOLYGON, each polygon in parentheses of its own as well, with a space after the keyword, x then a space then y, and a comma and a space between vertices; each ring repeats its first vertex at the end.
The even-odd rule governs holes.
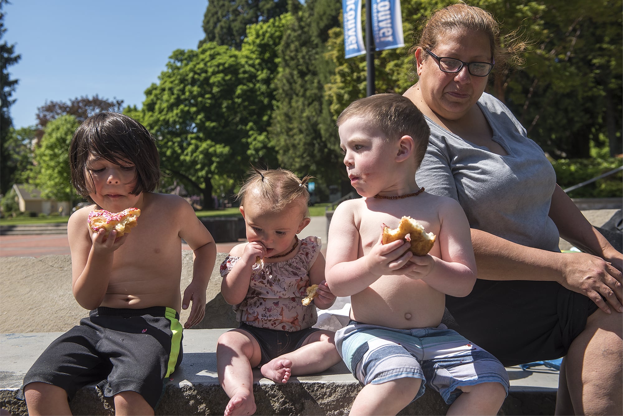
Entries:
MULTIPOLYGON (((465 62, 491 62, 487 37, 465 29, 439 33, 432 52, 465 62)), ((457 73, 444 73, 421 48, 415 57, 419 80, 404 96, 441 128, 506 156, 506 150, 493 141, 493 130, 477 104, 488 77, 470 75, 465 67, 457 73)), ((571 342, 563 360, 556 414, 621 414, 623 256, 589 224, 559 186, 553 191, 548 215, 560 237, 582 253, 526 247, 472 229, 478 278, 557 281, 591 298, 600 310, 588 317, 584 331, 571 342), (605 372, 604 368, 615 370, 605 372)))

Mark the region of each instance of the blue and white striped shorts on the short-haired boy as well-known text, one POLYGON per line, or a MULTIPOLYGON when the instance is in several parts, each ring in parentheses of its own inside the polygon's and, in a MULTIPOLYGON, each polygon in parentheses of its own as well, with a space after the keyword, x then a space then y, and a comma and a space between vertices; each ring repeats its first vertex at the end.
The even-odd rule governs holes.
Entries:
POLYGON ((492 354, 444 324, 437 328, 394 329, 350 321, 335 334, 335 346, 359 382, 381 384, 414 377, 437 390, 447 404, 458 387, 501 383, 508 394, 508 373, 492 354))

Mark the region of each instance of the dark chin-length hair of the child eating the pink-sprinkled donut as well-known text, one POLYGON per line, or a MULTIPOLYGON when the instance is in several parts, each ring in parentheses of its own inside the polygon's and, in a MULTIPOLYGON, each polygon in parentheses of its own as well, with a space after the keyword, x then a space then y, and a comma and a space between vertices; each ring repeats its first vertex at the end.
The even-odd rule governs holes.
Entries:
MULTIPOLYGON (((121 113, 102 112, 90 116, 76 130, 69 145, 69 167, 78 194, 85 198, 95 189, 87 181, 89 156, 114 164, 128 162, 136 169, 136 186, 131 193, 151 192, 160 180, 160 158, 156 141, 138 121, 121 113)), ((91 202, 93 202, 91 200, 91 202)))

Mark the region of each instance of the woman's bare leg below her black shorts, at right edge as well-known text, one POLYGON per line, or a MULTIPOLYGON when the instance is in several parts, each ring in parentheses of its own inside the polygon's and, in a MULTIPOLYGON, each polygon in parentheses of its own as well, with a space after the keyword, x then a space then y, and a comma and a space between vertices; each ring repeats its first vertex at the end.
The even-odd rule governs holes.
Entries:
POLYGON ((622 317, 598 309, 569 347, 564 376, 576 415, 623 414, 622 317))

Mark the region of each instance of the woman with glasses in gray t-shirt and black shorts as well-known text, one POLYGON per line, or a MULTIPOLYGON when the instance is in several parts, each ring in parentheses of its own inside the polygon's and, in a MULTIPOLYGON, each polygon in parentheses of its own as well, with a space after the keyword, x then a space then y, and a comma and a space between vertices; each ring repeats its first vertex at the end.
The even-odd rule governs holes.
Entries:
POLYGON ((445 7, 411 52, 418 80, 404 95, 430 127, 417 183, 457 199, 472 227, 478 281, 467 297, 446 300, 457 330, 505 366, 564 356, 556 414, 623 414, 623 255, 484 92, 493 67, 513 55, 500 47, 497 22, 478 7, 445 7), (559 237, 584 253, 561 253, 559 237))

